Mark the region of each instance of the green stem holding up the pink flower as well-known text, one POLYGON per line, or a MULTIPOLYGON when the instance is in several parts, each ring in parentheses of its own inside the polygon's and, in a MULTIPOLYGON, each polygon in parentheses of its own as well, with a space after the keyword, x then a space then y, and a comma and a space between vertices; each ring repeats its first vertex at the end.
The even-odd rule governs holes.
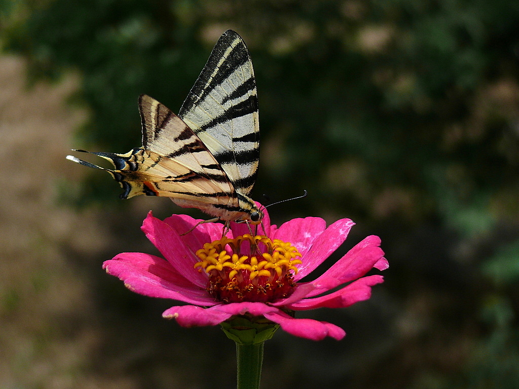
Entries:
POLYGON ((238 389, 259 389, 263 364, 263 344, 236 343, 238 389))

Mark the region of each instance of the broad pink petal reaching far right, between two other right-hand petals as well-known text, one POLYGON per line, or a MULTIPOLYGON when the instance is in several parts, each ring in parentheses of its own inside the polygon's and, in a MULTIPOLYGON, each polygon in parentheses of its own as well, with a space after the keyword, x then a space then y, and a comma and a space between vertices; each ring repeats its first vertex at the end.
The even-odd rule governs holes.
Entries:
POLYGON ((330 269, 311 281, 316 289, 309 296, 317 296, 339 285, 358 279, 381 263, 384 251, 378 247, 380 238, 375 235, 364 238, 360 243, 349 250, 345 256, 335 262, 330 269))

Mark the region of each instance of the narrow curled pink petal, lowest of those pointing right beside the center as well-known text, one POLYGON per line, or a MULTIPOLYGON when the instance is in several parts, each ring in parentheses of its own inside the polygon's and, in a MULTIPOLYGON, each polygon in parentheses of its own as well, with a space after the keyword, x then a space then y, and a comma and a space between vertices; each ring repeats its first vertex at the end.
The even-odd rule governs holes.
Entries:
POLYGON ((344 308, 371 297, 371 287, 384 282, 384 277, 375 274, 352 282, 344 288, 325 296, 303 299, 297 303, 286 305, 289 309, 301 311, 315 308, 344 308))

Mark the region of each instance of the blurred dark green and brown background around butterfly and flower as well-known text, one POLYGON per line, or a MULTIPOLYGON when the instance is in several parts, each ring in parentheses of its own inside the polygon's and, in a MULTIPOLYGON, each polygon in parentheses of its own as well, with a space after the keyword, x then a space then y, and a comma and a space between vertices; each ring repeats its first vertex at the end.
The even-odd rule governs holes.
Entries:
POLYGON ((253 198, 273 222, 348 217, 390 262, 370 300, 299 313, 340 342, 276 333, 262 387, 516 388, 519 2, 0 1, 0 388, 235 386, 221 330, 101 269, 156 253, 184 210, 119 200, 70 149, 141 145, 138 96, 178 112, 217 38, 247 43, 260 104, 253 198))

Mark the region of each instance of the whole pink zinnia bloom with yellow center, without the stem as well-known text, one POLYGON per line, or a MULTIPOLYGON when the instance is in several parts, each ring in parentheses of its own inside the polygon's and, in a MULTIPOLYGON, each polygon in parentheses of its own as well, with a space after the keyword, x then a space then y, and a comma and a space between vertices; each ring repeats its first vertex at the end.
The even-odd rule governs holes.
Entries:
MULTIPOLYGON (((264 317, 298 337, 340 340, 346 334, 342 328, 294 318, 294 311, 342 308, 367 300, 383 277, 363 276, 373 267, 389 266, 380 239, 372 235, 324 274, 301 283, 344 242, 354 225, 351 220, 326 227, 323 219, 308 217, 277 227, 270 225, 265 212, 264 235, 256 237, 246 224, 231 223, 222 237, 222 224, 197 225, 199 221, 176 214, 161 221, 149 212, 142 230, 166 260, 124 252, 105 261, 103 268, 136 293, 187 303, 162 314, 183 327, 214 326, 236 316, 264 317)), ((259 230, 263 232, 262 226, 259 230)))

